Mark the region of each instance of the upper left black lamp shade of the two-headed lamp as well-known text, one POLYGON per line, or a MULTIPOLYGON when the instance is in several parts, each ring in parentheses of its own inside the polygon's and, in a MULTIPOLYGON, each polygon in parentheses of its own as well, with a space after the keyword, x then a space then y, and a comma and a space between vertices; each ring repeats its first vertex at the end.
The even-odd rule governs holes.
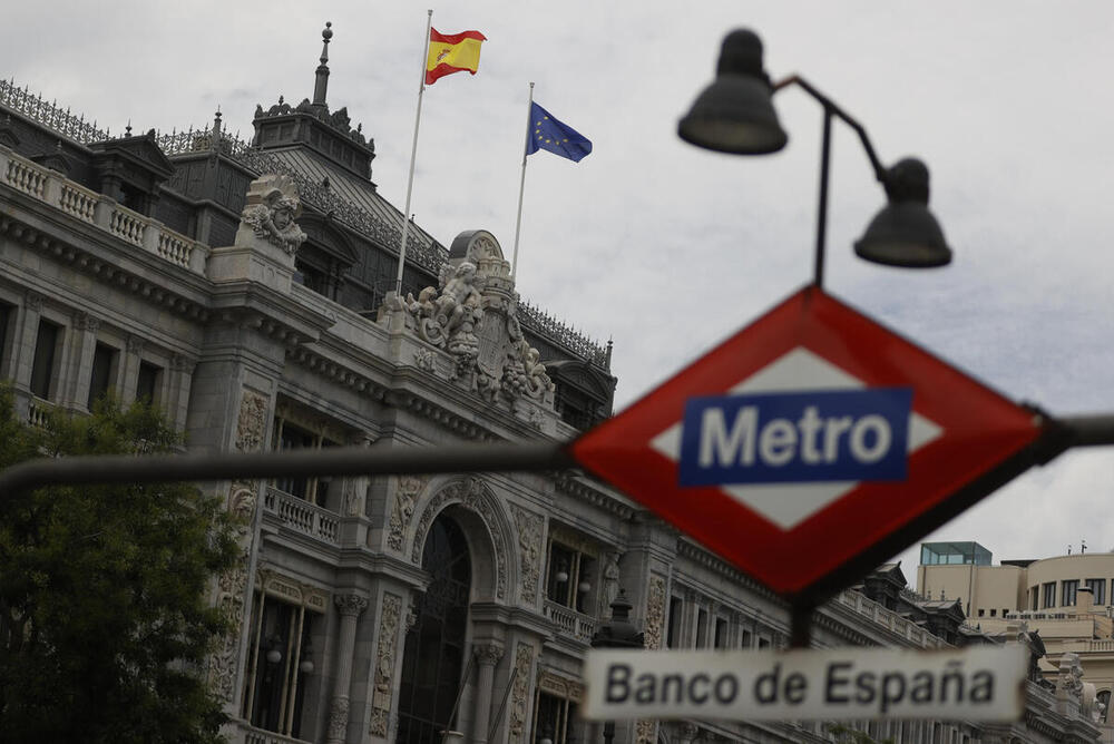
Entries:
POLYGON ((762 69, 762 40, 736 30, 723 40, 715 80, 677 124, 687 143, 720 153, 764 155, 789 141, 771 100, 770 78, 762 69))

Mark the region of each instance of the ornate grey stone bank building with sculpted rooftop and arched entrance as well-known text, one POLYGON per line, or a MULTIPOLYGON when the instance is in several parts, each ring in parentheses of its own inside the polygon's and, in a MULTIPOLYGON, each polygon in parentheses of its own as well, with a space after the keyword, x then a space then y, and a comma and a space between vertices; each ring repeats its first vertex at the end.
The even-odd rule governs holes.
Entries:
MULTIPOLYGON (((255 138, 113 138, 0 81, 0 375, 35 422, 106 391, 167 411, 193 452, 567 441, 610 413, 610 349, 515 291, 495 235, 448 248, 371 179, 374 143, 326 102, 255 138)), ((582 662, 619 587, 647 648, 780 648, 786 608, 582 473, 234 480, 235 618, 207 674, 235 742, 582 742, 582 662)), ((892 572, 878 586, 889 586, 892 572)), ((961 617, 864 584, 819 646, 939 648, 961 617), (892 603, 891 603, 892 604, 892 603), (926 618, 938 618, 937 626, 926 618)), ((1007 727, 862 722, 879 740, 1094 741, 1087 703, 1034 688, 1007 727)), ((655 722, 616 741, 823 742, 823 722, 655 722)))

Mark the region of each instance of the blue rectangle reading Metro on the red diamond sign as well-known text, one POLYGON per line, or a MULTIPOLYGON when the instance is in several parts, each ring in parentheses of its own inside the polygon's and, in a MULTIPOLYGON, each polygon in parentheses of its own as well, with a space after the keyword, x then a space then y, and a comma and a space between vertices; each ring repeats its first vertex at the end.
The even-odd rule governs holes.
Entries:
POLYGON ((681 486, 906 479, 912 388, 691 398, 681 486))

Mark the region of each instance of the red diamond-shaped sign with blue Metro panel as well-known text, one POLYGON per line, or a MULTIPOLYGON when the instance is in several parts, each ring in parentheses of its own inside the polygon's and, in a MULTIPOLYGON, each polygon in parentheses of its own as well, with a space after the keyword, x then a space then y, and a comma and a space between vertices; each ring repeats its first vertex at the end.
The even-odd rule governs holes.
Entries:
POLYGON ((809 286, 570 452, 792 598, 1016 477, 1040 434, 1032 411, 809 286))

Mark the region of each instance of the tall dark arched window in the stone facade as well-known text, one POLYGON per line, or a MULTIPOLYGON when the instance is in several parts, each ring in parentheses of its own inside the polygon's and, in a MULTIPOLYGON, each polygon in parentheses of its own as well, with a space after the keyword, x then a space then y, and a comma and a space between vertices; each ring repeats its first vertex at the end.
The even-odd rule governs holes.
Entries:
POLYGON ((441 515, 430 527, 422 568, 432 575, 418 621, 407 632, 399 694, 399 744, 439 744, 452 725, 465 669, 472 568, 460 527, 441 515))

